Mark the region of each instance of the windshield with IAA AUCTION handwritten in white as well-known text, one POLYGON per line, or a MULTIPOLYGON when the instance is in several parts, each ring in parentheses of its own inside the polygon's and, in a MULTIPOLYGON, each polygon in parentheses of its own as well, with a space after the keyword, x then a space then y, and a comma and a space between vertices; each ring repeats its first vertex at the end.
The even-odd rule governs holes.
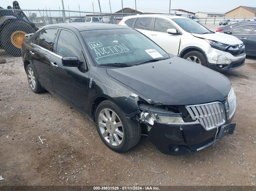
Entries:
POLYGON ((169 55, 153 41, 134 29, 83 31, 81 35, 96 63, 137 65, 169 55))

